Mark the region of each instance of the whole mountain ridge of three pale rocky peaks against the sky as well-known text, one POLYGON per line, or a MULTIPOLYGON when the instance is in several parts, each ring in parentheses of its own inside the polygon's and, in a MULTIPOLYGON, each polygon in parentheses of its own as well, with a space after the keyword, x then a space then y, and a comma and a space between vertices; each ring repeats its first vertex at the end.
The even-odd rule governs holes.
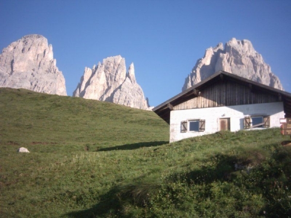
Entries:
MULTIPOLYGON (((219 43, 207 48, 185 78, 182 91, 215 72, 223 70, 264 85, 283 90, 271 67, 249 40, 219 43)), ((67 95, 65 78, 56 66, 52 46, 38 34, 23 36, 0 54, 0 87, 24 88, 41 93, 67 95)), ((135 78, 134 65, 127 70, 120 55, 103 59, 92 68, 85 67, 73 96, 109 101, 138 109, 152 109, 135 78)))

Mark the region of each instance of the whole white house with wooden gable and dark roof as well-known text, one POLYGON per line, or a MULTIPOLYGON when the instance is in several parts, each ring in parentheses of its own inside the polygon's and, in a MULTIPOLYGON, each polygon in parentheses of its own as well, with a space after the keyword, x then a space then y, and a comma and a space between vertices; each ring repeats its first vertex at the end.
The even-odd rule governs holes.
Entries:
POLYGON ((170 142, 215 133, 280 127, 291 117, 291 93, 224 71, 153 109, 170 124, 170 142))

